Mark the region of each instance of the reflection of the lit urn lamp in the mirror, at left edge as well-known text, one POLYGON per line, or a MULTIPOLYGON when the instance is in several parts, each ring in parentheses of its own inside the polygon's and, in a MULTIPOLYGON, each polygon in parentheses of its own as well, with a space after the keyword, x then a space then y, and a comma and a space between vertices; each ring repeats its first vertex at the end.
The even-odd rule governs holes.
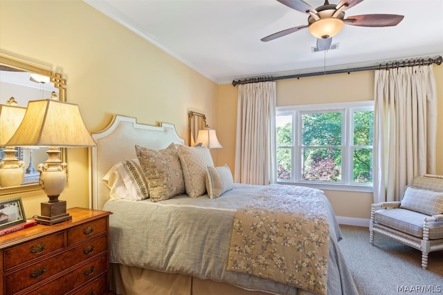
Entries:
POLYGON ((0 162, 1 187, 17 187, 23 182, 24 162, 15 157, 17 150, 7 143, 19 128, 25 112, 26 108, 21 106, 0 104, 0 146, 6 146, 3 150, 6 156, 0 162))

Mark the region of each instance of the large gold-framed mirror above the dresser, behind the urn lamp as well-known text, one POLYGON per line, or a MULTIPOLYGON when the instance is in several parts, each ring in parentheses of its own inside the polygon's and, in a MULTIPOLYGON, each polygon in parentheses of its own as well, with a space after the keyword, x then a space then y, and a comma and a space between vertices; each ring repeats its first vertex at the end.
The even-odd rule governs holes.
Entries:
MULTIPOLYGON (((0 53, 0 104, 15 102, 17 106, 26 107, 30 100, 37 99, 52 98, 66 102, 66 96, 66 79, 61 73, 0 53)), ((0 147, 0 159, 4 156, 3 148, 0 147)), ((19 186, 0 187, 0 195, 41 189, 35 167, 48 158, 46 149, 16 149, 17 158, 24 162, 24 181, 19 186)), ((62 161, 65 162, 66 149, 61 151, 62 161)))

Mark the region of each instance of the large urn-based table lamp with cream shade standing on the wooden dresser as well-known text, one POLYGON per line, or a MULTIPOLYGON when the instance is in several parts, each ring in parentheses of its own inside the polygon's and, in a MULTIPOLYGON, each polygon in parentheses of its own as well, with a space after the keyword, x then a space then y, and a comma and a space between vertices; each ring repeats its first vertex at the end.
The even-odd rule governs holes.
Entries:
POLYGON ((60 160, 59 147, 96 146, 96 142, 84 126, 77 104, 54 99, 33 100, 17 132, 8 145, 48 146, 48 160, 37 165, 40 172, 39 184, 48 196, 48 202, 41 204, 41 216, 37 221, 43 225, 54 225, 71 220, 66 213, 66 201, 59 200, 66 185, 68 166, 60 160))

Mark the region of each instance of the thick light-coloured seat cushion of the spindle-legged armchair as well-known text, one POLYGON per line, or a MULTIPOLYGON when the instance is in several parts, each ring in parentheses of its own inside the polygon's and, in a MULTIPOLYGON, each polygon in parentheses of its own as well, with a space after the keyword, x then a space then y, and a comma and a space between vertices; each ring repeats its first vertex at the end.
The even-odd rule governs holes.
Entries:
MULTIPOLYGON (((397 229, 417 238, 423 238, 425 217, 422 213, 408 209, 378 210, 374 213, 374 221, 380 225, 397 229)), ((443 238, 443 221, 429 222, 428 228, 430 240, 443 238)))

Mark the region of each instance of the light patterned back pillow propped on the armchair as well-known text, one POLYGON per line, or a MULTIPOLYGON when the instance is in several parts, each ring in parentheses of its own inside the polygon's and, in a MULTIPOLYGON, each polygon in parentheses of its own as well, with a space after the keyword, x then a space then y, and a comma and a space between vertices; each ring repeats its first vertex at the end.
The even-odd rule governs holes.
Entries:
POLYGON ((443 193, 408 187, 404 192, 400 208, 409 209, 426 215, 443 213, 443 193))

